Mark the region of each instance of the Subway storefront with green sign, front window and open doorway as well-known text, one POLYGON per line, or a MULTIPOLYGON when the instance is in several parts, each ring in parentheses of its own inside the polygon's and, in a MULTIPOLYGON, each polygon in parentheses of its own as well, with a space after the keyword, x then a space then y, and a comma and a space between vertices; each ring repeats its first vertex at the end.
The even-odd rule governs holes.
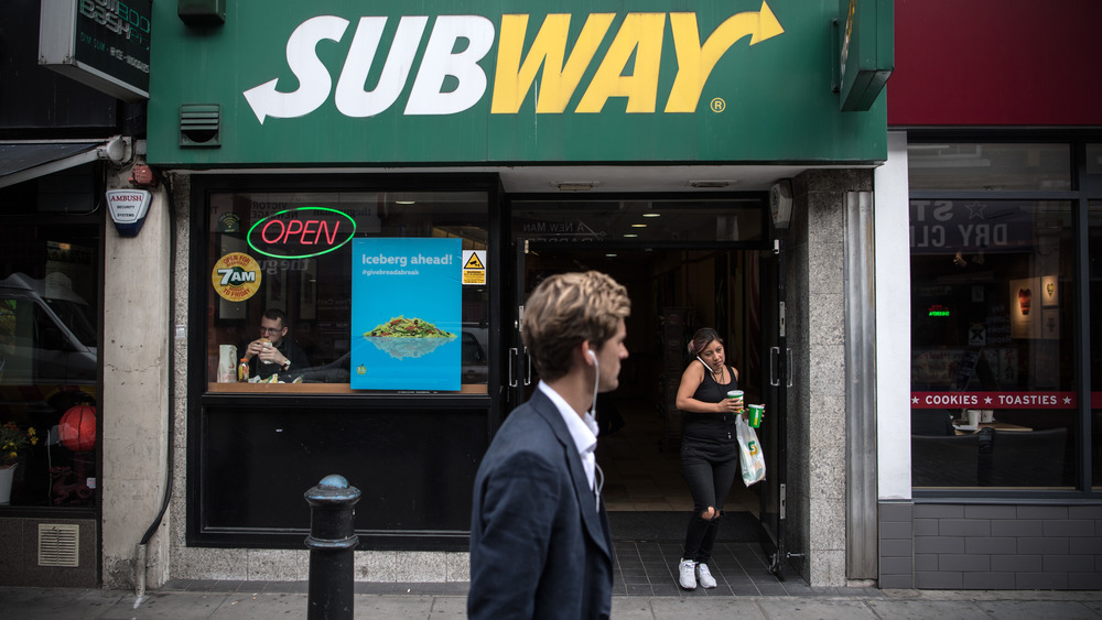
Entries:
MULTIPOLYGON (((175 490, 144 578, 305 579, 302 494, 339 474, 364 493, 358 579, 465 581, 474 472, 539 381, 525 296, 579 269, 633 298, 599 405, 609 510, 673 514, 659 535, 681 536, 673 392, 713 326, 773 422, 770 475, 731 511, 775 573, 875 578, 875 557, 846 558, 875 554, 875 519, 846 525, 875 483, 840 491, 875 439, 875 385, 844 378, 871 363, 846 319, 874 312, 876 275, 844 275, 874 262, 889 2, 197 4, 152 20, 166 219, 141 236, 171 248, 143 284, 172 300, 169 399, 105 420, 163 429, 175 490), (649 491, 633 463, 665 468, 649 491)), ((105 530, 131 510, 110 492, 105 530)))

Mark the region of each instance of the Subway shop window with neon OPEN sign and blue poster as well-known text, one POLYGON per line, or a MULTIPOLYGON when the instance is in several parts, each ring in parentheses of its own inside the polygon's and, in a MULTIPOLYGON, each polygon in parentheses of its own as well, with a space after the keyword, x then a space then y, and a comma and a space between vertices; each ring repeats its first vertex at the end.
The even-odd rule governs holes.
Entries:
POLYGON ((209 194, 208 390, 485 394, 487 199, 209 194))

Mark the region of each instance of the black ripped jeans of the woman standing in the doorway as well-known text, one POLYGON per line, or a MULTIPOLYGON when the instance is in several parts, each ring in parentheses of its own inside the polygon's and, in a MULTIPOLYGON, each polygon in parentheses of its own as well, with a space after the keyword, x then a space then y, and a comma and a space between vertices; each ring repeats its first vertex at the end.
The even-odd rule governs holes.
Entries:
POLYGON ((681 469, 693 501, 689 531, 685 533, 685 548, 681 557, 706 564, 712 559, 712 545, 720 531, 719 513, 723 510, 723 501, 731 492, 731 485, 738 474, 737 448, 734 452, 727 448, 713 449, 712 446, 685 442, 681 446, 681 469), (707 507, 716 510, 716 515, 712 519, 701 516, 707 507))

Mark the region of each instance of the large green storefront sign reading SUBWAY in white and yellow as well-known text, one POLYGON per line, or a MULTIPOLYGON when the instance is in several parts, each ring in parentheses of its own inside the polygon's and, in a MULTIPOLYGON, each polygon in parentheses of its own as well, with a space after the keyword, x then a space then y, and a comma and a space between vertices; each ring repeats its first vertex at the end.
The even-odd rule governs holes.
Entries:
POLYGON ((155 164, 886 157, 884 95, 843 112, 832 91, 833 2, 235 2, 201 26, 153 10, 155 164))

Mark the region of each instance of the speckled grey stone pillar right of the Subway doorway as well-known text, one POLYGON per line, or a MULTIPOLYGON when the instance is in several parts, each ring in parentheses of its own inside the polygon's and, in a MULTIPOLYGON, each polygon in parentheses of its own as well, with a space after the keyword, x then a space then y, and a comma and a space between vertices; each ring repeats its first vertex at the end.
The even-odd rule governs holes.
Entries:
POLYGON ((845 192, 871 191, 872 172, 811 170, 793 180, 788 257, 788 546, 815 587, 845 572, 845 192))

